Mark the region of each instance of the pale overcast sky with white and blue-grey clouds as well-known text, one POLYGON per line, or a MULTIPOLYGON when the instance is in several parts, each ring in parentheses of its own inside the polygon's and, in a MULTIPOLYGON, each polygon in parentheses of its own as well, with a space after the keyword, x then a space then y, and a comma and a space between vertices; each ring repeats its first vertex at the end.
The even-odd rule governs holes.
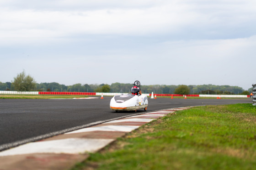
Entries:
POLYGON ((256 83, 256 0, 0 0, 0 81, 256 83))

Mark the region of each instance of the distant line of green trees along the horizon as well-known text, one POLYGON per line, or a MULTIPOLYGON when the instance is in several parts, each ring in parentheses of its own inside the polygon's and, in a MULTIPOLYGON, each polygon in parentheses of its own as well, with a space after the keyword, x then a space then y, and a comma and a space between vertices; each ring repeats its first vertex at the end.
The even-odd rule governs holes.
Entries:
MULTIPOLYGON (((112 83, 107 84, 75 84, 60 85, 59 83, 36 83, 30 76, 26 75, 25 70, 14 77, 11 82, 0 82, 0 90, 12 91, 55 91, 55 92, 112 92, 112 93, 130 93, 132 83, 112 83)), ((230 85, 142 85, 142 93, 154 94, 202 94, 202 95, 249 95, 251 89, 243 90, 238 86, 230 85)))

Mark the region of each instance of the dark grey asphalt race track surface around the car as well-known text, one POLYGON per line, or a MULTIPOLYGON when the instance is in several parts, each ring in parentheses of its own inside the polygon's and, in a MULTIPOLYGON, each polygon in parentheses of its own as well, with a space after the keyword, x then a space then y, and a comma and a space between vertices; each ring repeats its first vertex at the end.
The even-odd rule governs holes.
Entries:
MULTIPOLYGON (((145 113, 110 110, 104 99, 0 99, 0 150, 106 121, 145 113)), ((252 103, 247 99, 149 99, 147 112, 182 106, 252 103)))

